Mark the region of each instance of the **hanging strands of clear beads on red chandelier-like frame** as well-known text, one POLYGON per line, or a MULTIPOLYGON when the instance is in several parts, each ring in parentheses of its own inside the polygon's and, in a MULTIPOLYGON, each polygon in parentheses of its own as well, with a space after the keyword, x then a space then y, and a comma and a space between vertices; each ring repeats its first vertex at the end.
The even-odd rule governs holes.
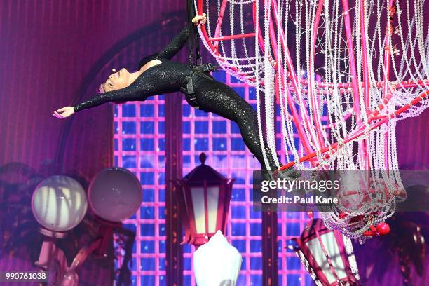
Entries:
POLYGON ((395 125, 428 107, 428 4, 197 0, 196 6, 207 14, 207 25, 199 28, 207 50, 229 74, 257 86, 259 132, 266 133, 272 154, 271 110, 281 109, 282 144, 293 154, 282 168, 368 170, 379 178, 372 182, 383 189, 376 201, 367 196, 353 211, 339 206, 323 212, 325 224, 361 238, 371 224, 390 217, 403 189, 395 125), (294 144, 295 132, 302 148, 294 144))

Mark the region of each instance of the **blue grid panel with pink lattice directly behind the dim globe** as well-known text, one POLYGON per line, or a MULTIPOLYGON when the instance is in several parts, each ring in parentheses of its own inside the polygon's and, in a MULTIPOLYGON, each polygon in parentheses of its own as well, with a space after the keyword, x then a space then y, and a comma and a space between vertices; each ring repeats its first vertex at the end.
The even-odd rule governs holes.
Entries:
POLYGON ((165 285, 165 118, 164 97, 116 105, 114 163, 137 175, 142 205, 123 222, 136 232, 132 285, 165 285))

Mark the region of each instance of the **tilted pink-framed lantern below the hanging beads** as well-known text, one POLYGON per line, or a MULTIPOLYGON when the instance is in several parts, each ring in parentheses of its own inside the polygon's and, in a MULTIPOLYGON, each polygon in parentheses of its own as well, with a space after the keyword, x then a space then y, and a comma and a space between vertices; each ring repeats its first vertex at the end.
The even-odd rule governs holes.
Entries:
POLYGON ((350 238, 311 219, 293 249, 316 285, 358 285, 359 273, 350 238))

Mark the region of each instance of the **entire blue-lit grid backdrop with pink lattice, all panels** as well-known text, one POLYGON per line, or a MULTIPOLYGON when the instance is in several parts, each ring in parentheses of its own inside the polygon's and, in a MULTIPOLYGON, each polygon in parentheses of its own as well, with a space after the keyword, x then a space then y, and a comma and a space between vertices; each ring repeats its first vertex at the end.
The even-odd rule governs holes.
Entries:
MULTIPOLYGON (((256 109, 254 88, 224 71, 213 76, 227 83, 256 109)), ((133 285, 165 285, 165 119, 163 95, 145 102, 115 107, 114 162, 135 172, 142 182, 142 207, 124 226, 136 231, 132 254, 133 285)), ((252 170, 259 162, 245 147, 236 123, 189 107, 183 109, 183 173, 199 165, 199 154, 207 154, 207 165, 226 177, 236 178, 231 198, 227 236, 243 256, 237 285, 262 285, 261 212, 252 211, 252 170)), ((280 121, 280 116, 278 116, 280 121)), ((280 139, 281 135, 278 135, 280 139)), ((280 146, 281 144, 278 144, 280 146)), ((285 161, 284 150, 281 151, 285 161)), ((306 219, 300 212, 278 213, 279 285, 313 285, 311 278, 286 241, 299 236, 306 219)), ((195 285, 193 247, 184 245, 184 285, 195 285)))

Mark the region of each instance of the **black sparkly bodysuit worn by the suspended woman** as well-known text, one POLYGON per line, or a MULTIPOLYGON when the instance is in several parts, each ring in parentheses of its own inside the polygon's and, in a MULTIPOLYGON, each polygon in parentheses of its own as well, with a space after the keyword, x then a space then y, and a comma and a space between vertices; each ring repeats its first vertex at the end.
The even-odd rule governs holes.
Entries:
MULTIPOLYGON (((100 93, 86 102, 77 104, 74 111, 97 107, 106 102, 144 101, 152 95, 179 91, 184 78, 190 74, 191 68, 188 64, 172 62, 170 59, 184 46, 188 34, 188 29, 183 29, 163 50, 144 57, 139 62, 139 69, 151 60, 160 60, 161 64, 149 67, 130 86, 100 93)), ((219 81, 200 77, 194 83, 194 90, 200 109, 218 114, 238 124, 247 148, 264 166, 261 144, 259 144, 257 112, 253 107, 233 89, 219 81)), ((276 170, 271 152, 266 151, 266 154, 269 166, 263 168, 276 170)))

